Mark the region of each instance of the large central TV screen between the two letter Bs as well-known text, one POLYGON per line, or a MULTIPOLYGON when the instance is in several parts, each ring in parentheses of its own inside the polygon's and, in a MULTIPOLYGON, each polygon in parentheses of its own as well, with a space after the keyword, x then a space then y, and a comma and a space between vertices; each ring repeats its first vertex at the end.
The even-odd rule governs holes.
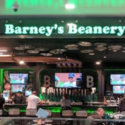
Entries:
POLYGON ((82 73, 55 73, 55 87, 81 88, 82 73))

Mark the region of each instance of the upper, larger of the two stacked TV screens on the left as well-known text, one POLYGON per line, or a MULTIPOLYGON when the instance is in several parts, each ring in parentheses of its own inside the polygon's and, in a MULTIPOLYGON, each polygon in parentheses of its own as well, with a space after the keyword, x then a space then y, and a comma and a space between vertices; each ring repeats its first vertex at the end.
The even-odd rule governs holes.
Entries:
POLYGON ((10 84, 27 84, 28 73, 10 73, 10 84))

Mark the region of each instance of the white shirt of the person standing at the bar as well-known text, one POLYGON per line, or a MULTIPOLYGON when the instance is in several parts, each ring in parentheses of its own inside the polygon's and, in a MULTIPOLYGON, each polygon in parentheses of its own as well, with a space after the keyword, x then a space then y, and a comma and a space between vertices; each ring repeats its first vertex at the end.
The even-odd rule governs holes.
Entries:
POLYGON ((27 109, 37 109, 37 104, 41 102, 40 98, 36 95, 30 95, 27 98, 28 106, 27 109))

